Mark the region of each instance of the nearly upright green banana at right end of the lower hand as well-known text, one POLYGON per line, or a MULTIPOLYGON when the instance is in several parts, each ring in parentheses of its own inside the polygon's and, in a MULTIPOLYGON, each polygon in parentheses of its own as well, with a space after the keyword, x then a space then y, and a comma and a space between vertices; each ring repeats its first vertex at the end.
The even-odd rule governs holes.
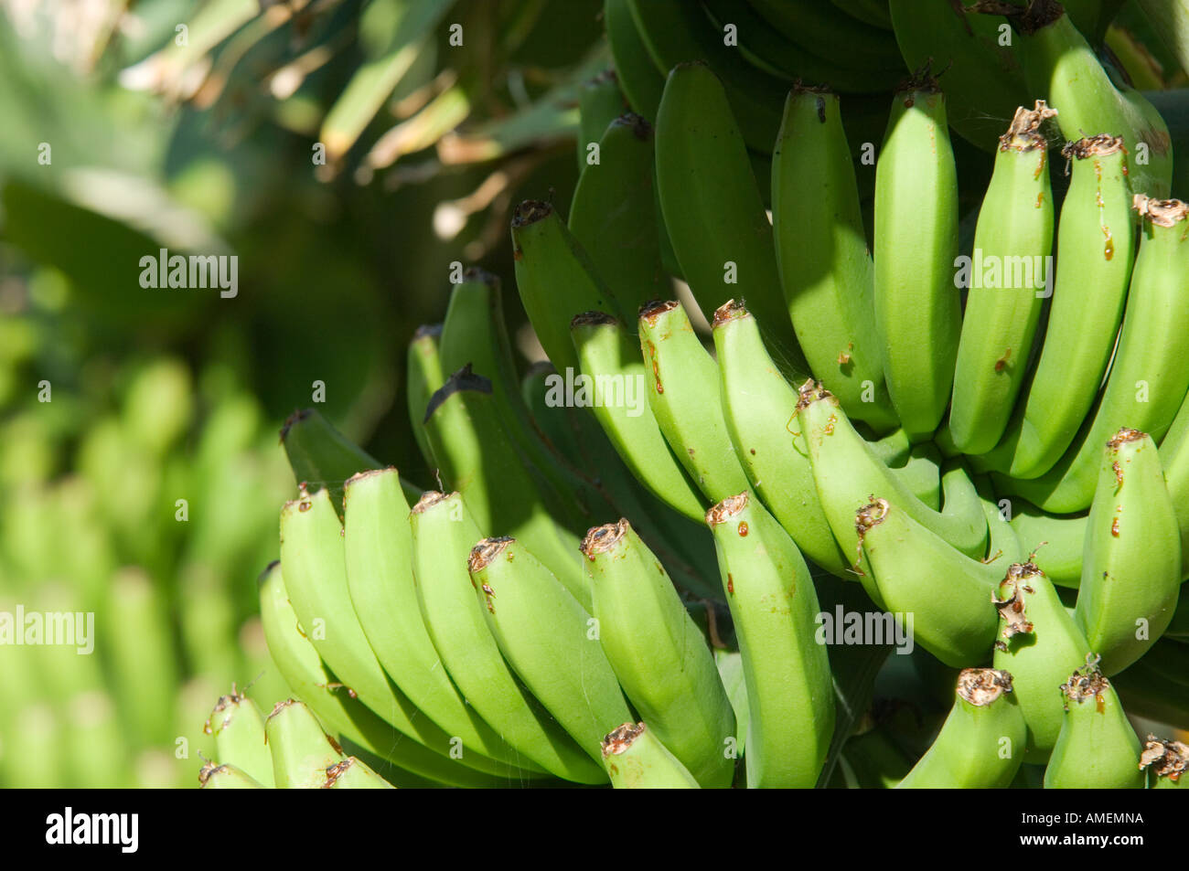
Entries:
POLYGON ((835 724, 817 593, 788 534, 747 492, 706 512, 747 687, 747 784, 812 787, 835 724))

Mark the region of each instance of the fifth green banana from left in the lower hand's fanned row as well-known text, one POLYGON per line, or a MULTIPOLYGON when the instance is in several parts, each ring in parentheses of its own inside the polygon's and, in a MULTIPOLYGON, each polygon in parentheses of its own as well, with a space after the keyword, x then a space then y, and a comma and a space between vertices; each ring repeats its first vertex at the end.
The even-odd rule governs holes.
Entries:
POLYGON ((590 612, 515 538, 484 538, 467 570, 499 651, 592 759, 609 722, 631 719, 590 612))

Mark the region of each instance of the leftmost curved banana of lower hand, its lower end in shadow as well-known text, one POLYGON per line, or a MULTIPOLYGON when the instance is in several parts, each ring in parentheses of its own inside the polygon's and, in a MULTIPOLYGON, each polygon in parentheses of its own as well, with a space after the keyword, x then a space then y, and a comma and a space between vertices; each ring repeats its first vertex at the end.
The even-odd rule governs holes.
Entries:
POLYGON ((496 787, 507 781, 455 764, 410 740, 373 714, 326 667, 297 620, 289 601, 281 563, 260 575, 260 621, 269 644, 269 656, 294 694, 334 734, 390 759, 400 769, 389 775, 397 785, 424 787, 447 783, 457 787, 496 787), (413 772, 413 774, 405 774, 413 772))

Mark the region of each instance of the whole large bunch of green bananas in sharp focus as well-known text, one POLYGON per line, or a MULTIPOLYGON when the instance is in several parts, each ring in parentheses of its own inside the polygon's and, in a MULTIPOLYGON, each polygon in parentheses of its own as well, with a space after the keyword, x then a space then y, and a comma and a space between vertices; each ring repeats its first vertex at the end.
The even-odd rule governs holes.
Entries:
MULTIPOLYGON (((548 361, 520 374, 480 270, 410 343, 436 490, 287 424, 260 607, 294 698, 392 783, 1175 785, 1184 734, 1137 730, 1189 726, 1189 207, 1135 118, 1053 78, 964 214, 924 67, 868 208, 850 97, 797 83, 765 120, 755 68, 685 62, 717 51, 699 6, 728 14, 606 5, 656 70, 591 86, 568 217, 512 215, 548 361)), ((1033 7, 1002 14, 1068 48, 1033 7)), ((309 743, 290 780, 320 785, 350 757, 309 743)))

